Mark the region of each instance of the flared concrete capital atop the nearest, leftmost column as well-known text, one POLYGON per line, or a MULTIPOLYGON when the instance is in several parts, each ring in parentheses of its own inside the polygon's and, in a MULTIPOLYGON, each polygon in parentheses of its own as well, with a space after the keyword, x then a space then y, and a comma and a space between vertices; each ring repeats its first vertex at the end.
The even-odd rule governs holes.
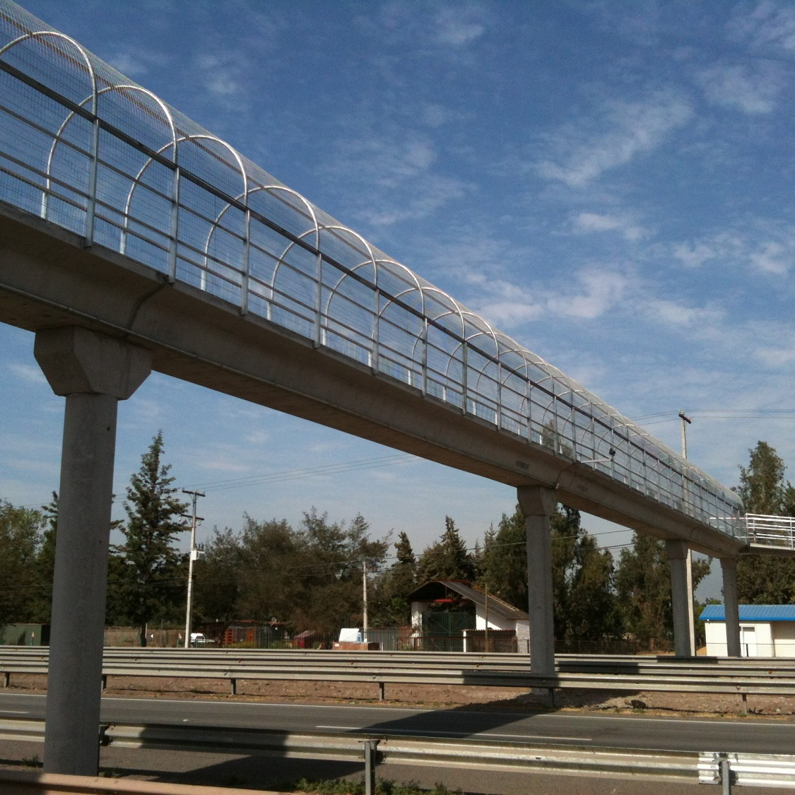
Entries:
POLYGON ((80 326, 37 332, 33 355, 52 391, 62 397, 105 394, 126 400, 152 370, 145 348, 80 326))

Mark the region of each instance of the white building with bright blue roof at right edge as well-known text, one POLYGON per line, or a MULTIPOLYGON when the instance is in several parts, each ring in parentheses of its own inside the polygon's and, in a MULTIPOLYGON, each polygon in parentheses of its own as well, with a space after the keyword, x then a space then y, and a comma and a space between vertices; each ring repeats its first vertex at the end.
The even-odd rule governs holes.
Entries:
MULTIPOLYGON (((795 604, 741 604, 740 653, 743 657, 795 657, 795 604)), ((726 614, 708 604, 700 615, 709 657, 726 657, 726 614)))

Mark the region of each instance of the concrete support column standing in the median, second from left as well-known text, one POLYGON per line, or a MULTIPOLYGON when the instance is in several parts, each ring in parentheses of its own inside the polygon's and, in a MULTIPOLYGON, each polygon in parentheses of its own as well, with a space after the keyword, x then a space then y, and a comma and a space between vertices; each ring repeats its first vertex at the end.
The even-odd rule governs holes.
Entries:
POLYGON ((527 591, 530 615, 530 671, 555 673, 555 626, 552 601, 552 537, 549 522, 555 513, 553 489, 520 486, 519 507, 525 514, 527 591))

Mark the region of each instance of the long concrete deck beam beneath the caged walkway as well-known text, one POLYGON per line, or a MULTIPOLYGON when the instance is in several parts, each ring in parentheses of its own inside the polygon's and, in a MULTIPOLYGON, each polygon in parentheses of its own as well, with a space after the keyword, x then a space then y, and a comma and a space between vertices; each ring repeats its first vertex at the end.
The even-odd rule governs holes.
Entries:
POLYGON ((591 467, 314 347, 267 320, 51 223, 0 207, 0 321, 37 332, 82 325, 149 348, 153 370, 362 436, 692 549, 743 543, 591 467))

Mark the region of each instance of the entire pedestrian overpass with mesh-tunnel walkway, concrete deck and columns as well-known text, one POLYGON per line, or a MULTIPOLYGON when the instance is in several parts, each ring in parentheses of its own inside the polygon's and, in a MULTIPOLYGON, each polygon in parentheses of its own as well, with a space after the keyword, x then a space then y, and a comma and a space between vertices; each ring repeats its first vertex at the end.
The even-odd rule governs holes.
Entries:
POLYGON ((10 0, 0 320, 36 333, 66 398, 46 770, 96 769, 116 406, 150 368, 516 487, 533 673, 554 665, 556 502, 665 539, 677 651, 688 547, 721 560, 731 626, 733 566, 753 549, 735 494, 10 0))

